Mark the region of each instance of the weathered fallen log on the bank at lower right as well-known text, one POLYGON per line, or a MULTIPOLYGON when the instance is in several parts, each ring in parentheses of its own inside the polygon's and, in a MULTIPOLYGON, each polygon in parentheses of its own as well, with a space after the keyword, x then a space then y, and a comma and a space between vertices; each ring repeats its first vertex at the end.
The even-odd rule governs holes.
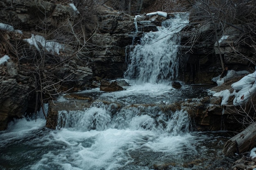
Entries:
POLYGON ((235 153, 240 154, 250 151, 256 145, 256 123, 248 126, 243 132, 229 139, 222 152, 226 156, 234 156, 235 153))

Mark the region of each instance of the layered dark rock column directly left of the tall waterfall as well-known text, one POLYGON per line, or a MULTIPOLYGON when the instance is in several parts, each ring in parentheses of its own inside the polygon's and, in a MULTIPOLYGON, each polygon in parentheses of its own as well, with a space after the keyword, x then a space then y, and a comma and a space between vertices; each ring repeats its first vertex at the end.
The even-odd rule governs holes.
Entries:
POLYGON ((104 9, 97 13, 99 30, 92 36, 98 46, 93 52, 92 62, 95 75, 101 78, 123 77, 126 70, 125 50, 132 44, 128 33, 134 30, 133 17, 125 13, 104 9))

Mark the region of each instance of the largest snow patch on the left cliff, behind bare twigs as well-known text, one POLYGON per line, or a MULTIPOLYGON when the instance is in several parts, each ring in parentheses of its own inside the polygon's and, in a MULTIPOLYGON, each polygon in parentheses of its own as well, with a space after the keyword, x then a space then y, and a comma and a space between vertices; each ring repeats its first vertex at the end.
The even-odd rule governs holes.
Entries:
POLYGON ((36 47, 38 51, 45 48, 47 51, 52 52, 53 54, 59 54, 59 51, 64 49, 64 45, 55 41, 45 40, 45 38, 40 35, 31 34, 31 38, 26 38, 24 41, 29 43, 31 46, 36 47))

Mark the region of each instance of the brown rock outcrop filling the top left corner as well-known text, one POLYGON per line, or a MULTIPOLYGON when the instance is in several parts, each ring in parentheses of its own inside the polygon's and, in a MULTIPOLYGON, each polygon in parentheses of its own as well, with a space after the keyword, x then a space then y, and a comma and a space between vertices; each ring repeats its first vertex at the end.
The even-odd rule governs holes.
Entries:
POLYGON ((48 26, 58 26, 59 18, 65 19, 75 15, 75 11, 69 5, 55 4, 38 0, 3 0, 0 2, 3 9, 0 12, 0 20, 11 23, 16 29, 29 30, 37 26, 47 24, 48 26), (41 13, 44 11, 44 14, 41 13), (45 16, 47 18, 44 18, 45 16), (50 16, 48 18, 48 16, 50 16), (42 20, 38 20, 41 17, 42 20), (43 21, 43 22, 42 22, 43 21))

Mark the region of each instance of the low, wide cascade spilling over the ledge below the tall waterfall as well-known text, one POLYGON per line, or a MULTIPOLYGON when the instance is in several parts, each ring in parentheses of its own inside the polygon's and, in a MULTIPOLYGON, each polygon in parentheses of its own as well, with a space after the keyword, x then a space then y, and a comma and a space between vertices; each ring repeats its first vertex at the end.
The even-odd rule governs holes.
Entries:
POLYGON ((90 131, 107 129, 150 130, 177 136, 189 132, 189 114, 184 111, 163 113, 159 106, 131 105, 112 114, 110 106, 92 106, 85 110, 60 111, 58 127, 90 131))

